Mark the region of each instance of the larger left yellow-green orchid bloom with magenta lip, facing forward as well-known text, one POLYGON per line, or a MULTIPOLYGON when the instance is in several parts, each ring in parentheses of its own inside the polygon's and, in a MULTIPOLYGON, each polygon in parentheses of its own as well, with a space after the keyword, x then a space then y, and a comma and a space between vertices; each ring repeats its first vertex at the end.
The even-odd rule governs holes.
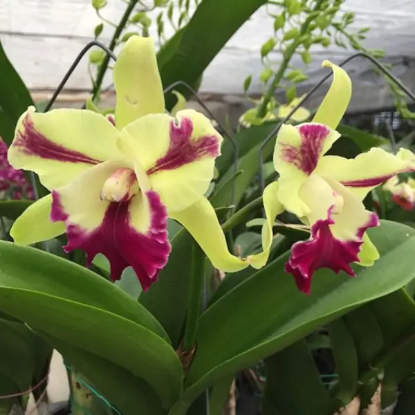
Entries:
POLYGON ((144 290, 171 250, 167 217, 192 234, 215 268, 248 266, 230 255, 212 205, 203 196, 222 137, 194 110, 165 113, 154 40, 133 36, 114 67, 113 118, 94 111, 30 107, 17 124, 10 164, 33 170, 51 194, 30 206, 10 234, 30 244, 66 232, 66 252, 102 253, 111 279, 131 266, 144 290))

